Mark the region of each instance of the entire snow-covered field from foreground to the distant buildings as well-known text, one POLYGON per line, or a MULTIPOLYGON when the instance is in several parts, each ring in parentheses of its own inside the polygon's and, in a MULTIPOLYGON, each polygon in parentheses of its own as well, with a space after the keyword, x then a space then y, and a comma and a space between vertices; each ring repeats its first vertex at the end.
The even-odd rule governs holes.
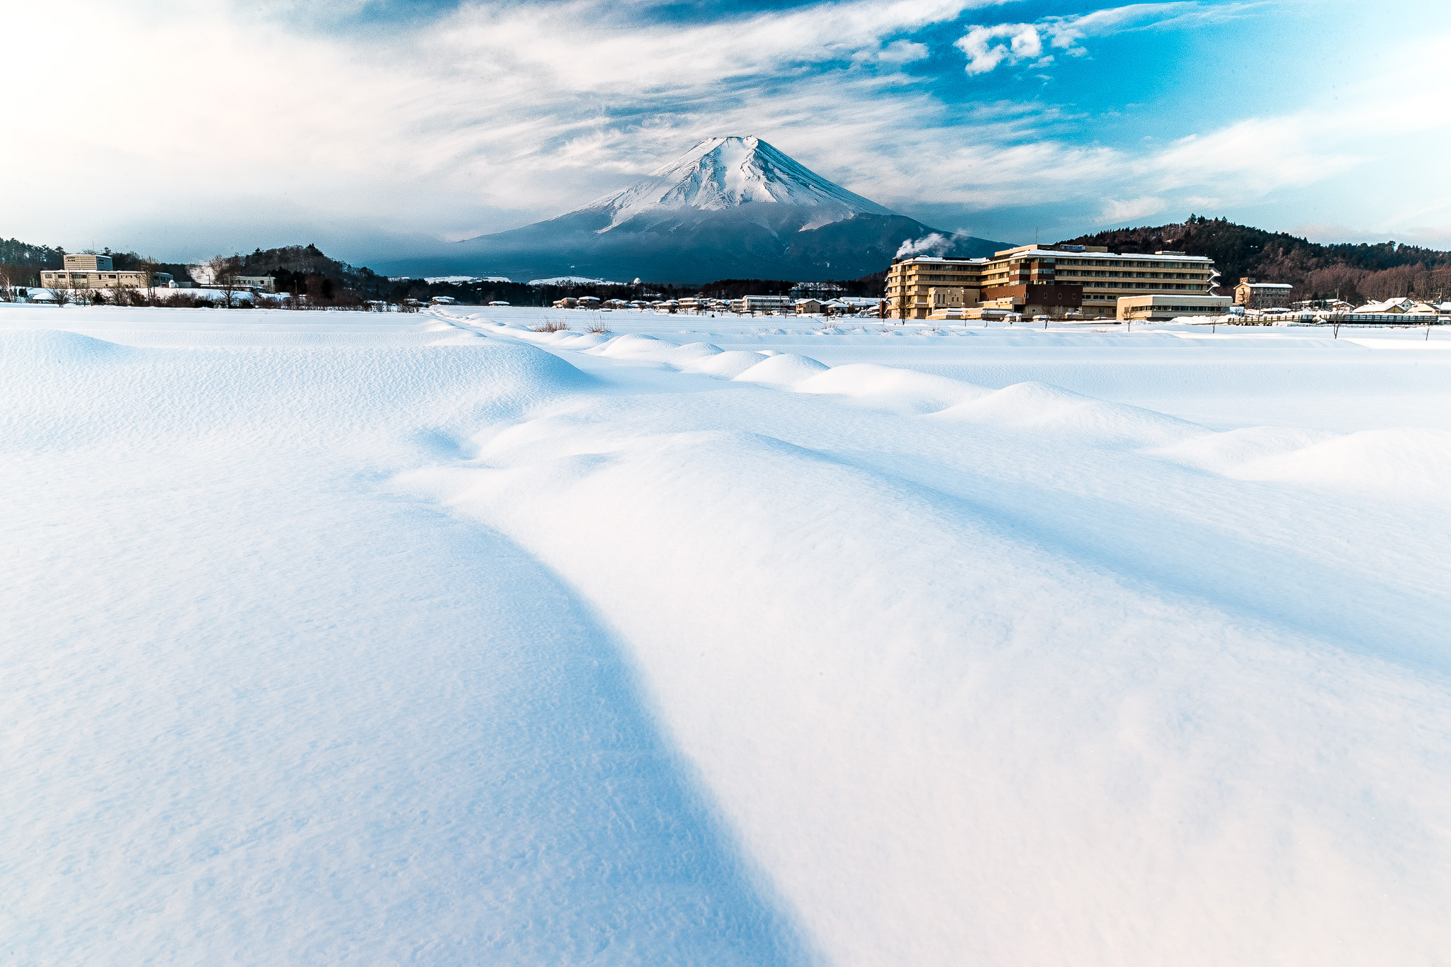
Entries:
POLYGON ((9 963, 1445 963, 1451 332, 601 319, 0 306, 9 963))

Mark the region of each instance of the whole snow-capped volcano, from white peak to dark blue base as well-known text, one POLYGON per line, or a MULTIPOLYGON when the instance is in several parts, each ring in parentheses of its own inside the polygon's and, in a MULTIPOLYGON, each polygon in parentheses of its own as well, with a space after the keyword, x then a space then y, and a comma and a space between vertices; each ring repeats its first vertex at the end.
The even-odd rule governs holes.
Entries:
POLYGON ((1001 242, 939 232, 847 191, 759 138, 710 138, 637 184, 582 209, 454 242, 441 258, 387 267, 508 275, 704 283, 856 278, 904 242, 988 255, 1001 242))

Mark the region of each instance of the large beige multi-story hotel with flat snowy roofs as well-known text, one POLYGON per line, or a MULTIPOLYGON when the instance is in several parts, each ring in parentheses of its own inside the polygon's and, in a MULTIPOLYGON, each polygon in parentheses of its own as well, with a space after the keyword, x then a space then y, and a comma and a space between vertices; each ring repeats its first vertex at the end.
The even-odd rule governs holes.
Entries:
POLYGON ((948 307, 1113 318, 1120 296, 1206 294, 1216 274, 1204 255, 1022 245, 992 258, 894 258, 887 304, 894 319, 926 319, 948 307))

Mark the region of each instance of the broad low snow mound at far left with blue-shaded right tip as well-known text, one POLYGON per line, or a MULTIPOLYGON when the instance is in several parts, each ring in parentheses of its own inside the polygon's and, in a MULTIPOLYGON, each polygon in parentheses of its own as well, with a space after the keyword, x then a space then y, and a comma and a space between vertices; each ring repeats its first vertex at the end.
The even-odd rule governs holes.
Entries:
POLYGON ((184 349, 0 332, 0 386, 7 447, 90 447, 149 432, 332 447, 350 433, 396 438, 418 425, 506 419, 593 378, 511 342, 184 349))

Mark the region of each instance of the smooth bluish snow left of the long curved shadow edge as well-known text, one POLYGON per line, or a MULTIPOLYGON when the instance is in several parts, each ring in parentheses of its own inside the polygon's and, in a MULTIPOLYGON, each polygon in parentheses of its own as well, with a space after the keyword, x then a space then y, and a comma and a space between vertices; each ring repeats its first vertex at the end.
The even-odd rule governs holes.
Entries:
POLYGON ((400 329, 0 333, 9 957, 801 960, 591 607, 383 486, 593 381, 400 329))

